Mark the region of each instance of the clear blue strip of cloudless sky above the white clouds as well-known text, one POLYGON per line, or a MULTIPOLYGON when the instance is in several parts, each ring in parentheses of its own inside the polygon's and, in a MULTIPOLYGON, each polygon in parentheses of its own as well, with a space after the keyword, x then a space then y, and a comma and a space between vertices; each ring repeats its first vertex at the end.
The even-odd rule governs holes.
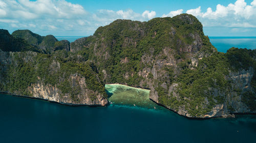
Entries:
MULTIPOLYGON (((199 0, 164 0, 164 1, 153 1, 153 0, 144 0, 144 1, 136 1, 136 0, 130 0, 130 1, 104 1, 104 0, 98 0, 98 1, 80 1, 80 0, 71 0, 68 1, 74 4, 80 4, 83 6, 86 10, 90 12, 96 12, 99 9, 110 9, 114 11, 118 10, 126 10, 126 9, 132 9, 137 13, 143 13, 145 10, 149 11, 156 11, 157 15, 156 17, 161 17, 163 14, 169 13, 170 11, 175 11, 178 9, 194 9, 199 6, 201 6, 203 11, 206 11, 208 7, 212 7, 216 9, 216 6, 218 4, 222 5, 228 5, 230 3, 234 3, 236 1, 199 1, 199 0)), ((245 1, 247 2, 247 1, 245 1)), ((248 1, 250 2, 250 1, 248 1)))

